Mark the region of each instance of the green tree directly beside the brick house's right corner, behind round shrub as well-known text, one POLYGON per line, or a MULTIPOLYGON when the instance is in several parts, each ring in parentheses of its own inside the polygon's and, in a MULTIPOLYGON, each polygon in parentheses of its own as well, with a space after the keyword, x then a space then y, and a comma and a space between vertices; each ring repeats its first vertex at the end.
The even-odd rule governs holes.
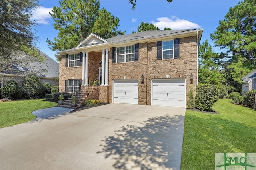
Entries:
POLYGON ((221 73, 221 66, 219 54, 212 50, 212 46, 205 40, 199 46, 199 67, 198 76, 199 83, 222 84, 225 82, 223 73, 221 73))

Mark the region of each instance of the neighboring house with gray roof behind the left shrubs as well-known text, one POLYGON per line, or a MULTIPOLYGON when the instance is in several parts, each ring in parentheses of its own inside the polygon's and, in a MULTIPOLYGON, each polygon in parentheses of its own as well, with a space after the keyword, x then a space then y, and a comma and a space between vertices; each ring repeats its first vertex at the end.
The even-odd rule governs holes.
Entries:
MULTIPOLYGON (((42 51, 40 51, 40 55, 44 56, 42 62, 26 59, 26 62, 15 64, 12 68, 2 71, 0 73, 0 87, 3 87, 10 80, 18 81, 22 85, 24 77, 30 73, 38 75, 43 84, 48 83, 52 86, 58 86, 59 63, 42 51)), ((21 57, 26 56, 21 55, 21 57)))

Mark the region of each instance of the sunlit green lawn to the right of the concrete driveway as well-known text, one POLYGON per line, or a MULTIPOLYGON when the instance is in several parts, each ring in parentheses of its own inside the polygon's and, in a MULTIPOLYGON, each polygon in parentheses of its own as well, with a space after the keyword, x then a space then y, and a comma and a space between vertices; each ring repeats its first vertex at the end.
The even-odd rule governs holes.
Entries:
POLYGON ((256 111, 220 99, 219 114, 186 111, 182 170, 212 170, 215 153, 256 152, 256 111))

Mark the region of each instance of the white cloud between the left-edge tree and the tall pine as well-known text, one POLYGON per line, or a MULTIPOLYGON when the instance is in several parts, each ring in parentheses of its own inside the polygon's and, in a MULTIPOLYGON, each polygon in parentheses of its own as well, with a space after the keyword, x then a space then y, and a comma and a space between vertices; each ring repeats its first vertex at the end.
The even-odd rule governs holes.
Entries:
POLYGON ((33 10, 34 16, 32 16, 30 19, 35 20, 39 24, 48 25, 49 22, 47 19, 52 17, 49 14, 49 12, 51 11, 52 11, 52 8, 44 8, 40 6, 39 8, 36 8, 35 10, 33 10))

